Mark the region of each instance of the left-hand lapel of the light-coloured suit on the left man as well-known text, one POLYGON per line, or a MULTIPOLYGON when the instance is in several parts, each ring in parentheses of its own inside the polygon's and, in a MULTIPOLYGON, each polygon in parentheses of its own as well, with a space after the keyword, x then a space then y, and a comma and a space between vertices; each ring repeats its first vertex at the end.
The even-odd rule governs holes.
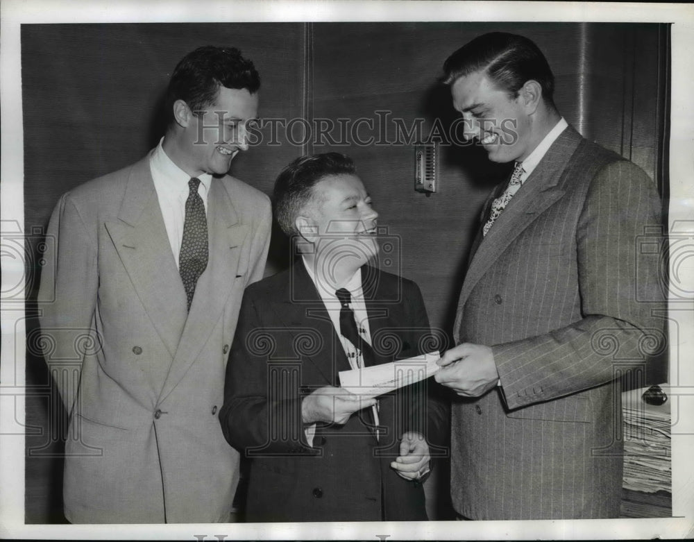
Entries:
POLYGON ((116 221, 105 223, 137 296, 171 356, 185 325, 186 301, 149 169, 133 166, 116 221))

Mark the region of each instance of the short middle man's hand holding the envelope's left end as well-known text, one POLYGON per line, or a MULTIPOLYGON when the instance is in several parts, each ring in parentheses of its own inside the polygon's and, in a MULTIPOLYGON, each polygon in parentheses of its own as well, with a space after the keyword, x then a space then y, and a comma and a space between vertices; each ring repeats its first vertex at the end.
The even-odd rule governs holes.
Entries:
POLYGON ((376 404, 373 397, 349 393, 345 389, 325 386, 313 391, 301 402, 303 423, 328 422, 347 423, 352 414, 362 408, 376 404))

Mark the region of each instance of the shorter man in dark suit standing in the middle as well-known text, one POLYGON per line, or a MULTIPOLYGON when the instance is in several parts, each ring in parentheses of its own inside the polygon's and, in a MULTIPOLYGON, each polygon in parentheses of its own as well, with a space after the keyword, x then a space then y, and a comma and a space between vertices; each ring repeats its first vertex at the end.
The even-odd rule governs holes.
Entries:
POLYGON ((246 290, 220 421, 252 459, 250 521, 425 520, 427 437, 448 423, 426 381, 375 398, 339 371, 419 356, 430 337, 414 282, 366 264, 378 213, 338 153, 299 158, 275 185, 296 238, 290 269, 246 290))

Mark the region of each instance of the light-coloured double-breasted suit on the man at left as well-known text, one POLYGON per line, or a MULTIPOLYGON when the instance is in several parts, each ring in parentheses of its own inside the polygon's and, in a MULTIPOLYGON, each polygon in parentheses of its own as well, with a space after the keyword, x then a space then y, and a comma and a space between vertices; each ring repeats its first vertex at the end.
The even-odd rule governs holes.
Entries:
POLYGON ((239 454, 217 416, 242 294, 262 278, 270 227, 267 196, 230 176, 212 180, 210 257, 188 313, 149 156, 62 196, 40 306, 46 361, 71 412, 68 520, 229 519, 239 454))

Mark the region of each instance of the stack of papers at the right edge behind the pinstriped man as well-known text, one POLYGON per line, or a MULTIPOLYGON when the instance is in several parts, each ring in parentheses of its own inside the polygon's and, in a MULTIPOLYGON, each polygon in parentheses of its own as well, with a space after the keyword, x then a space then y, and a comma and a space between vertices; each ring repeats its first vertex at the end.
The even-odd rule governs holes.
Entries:
POLYGON ((670 463, 670 389, 663 405, 648 405, 641 395, 648 388, 623 393, 624 487, 654 493, 672 491, 670 463))

